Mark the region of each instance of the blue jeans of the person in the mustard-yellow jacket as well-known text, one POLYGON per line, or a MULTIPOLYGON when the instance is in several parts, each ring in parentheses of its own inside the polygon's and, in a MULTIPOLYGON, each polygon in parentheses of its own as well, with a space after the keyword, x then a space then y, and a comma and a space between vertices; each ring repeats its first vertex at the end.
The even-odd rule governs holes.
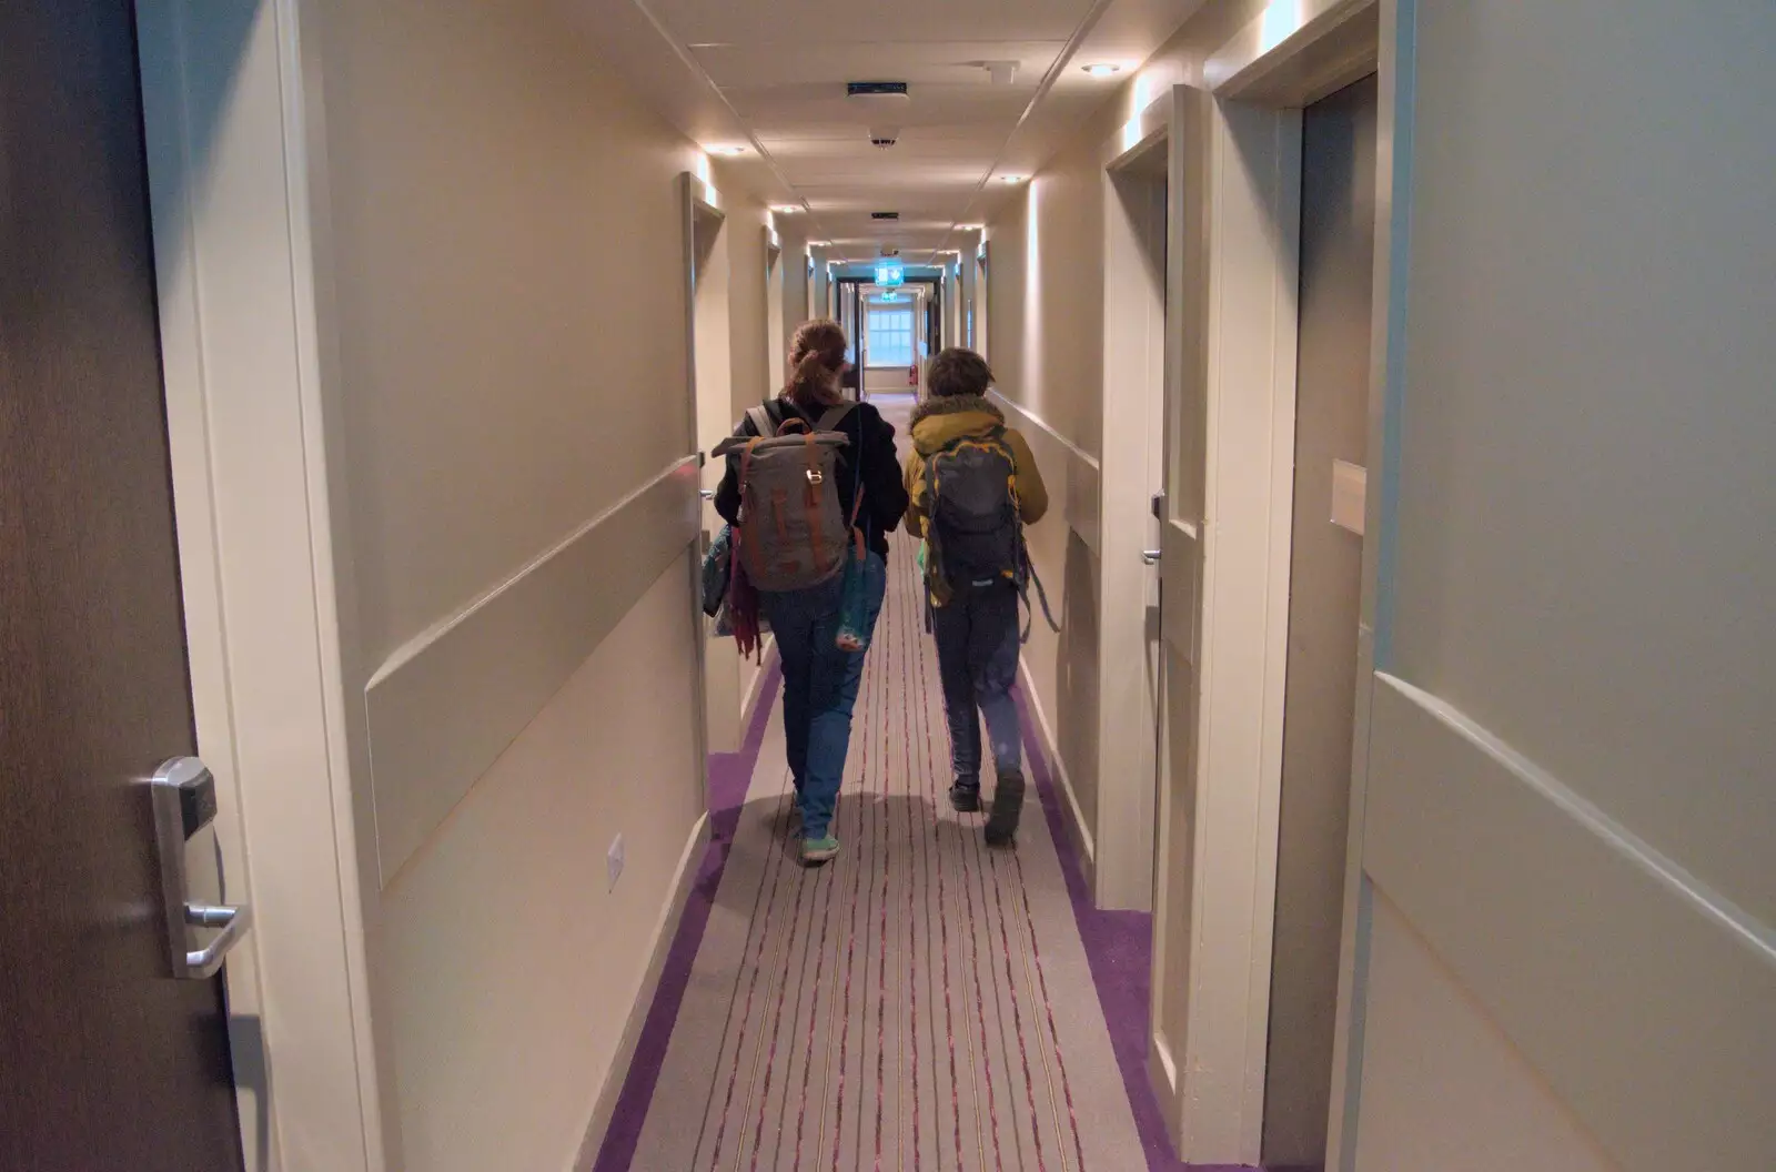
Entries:
POLYGON ((1011 582, 961 588, 932 607, 950 769, 957 785, 980 785, 980 716, 987 719, 1000 776, 1023 771, 1023 728, 1011 694, 1018 680, 1018 590, 1011 582), (979 716, 975 710, 979 709, 979 716))

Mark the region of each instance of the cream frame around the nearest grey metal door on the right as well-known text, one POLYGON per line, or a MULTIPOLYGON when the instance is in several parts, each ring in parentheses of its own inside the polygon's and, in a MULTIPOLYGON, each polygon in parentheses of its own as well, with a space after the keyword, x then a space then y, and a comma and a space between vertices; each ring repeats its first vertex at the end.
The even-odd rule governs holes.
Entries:
MULTIPOLYGON (((1167 428, 1185 428, 1179 437, 1190 442, 1181 451, 1202 481, 1195 508, 1169 506, 1169 524, 1190 538, 1195 565, 1162 570, 1167 602, 1193 611, 1192 630, 1169 630, 1179 634, 1176 646, 1193 664, 1197 685, 1183 764, 1195 810, 1186 812, 1193 815, 1186 819, 1190 971, 1165 971, 1156 915, 1149 1074, 1179 1154, 1197 1163, 1257 1165, 1263 1147, 1293 540, 1302 108, 1376 69, 1375 14, 1376 0, 1275 0, 1208 59, 1202 89, 1174 91, 1176 297, 1167 332, 1177 360, 1169 362, 1167 394, 1188 417, 1169 419, 1167 428), (1183 1037, 1174 1039, 1162 998, 1177 987, 1190 1000, 1183 1037)), ((1389 131, 1384 117, 1380 160, 1389 131)), ((1133 123, 1124 135, 1131 146, 1146 137, 1133 123)), ((1385 218, 1385 194, 1380 202, 1385 218)), ((1378 281, 1392 263, 1382 224, 1378 281)), ((1376 321, 1380 329, 1384 314, 1376 321)), ((1380 401, 1375 394, 1371 412, 1380 401)), ((1369 531, 1378 529, 1371 520, 1369 531)), ((1368 581, 1369 570, 1366 618, 1368 581)), ((1359 721, 1366 710, 1360 696, 1359 721)), ((1174 764, 1165 767, 1176 772, 1174 764)), ((1353 778, 1353 801, 1357 785, 1353 778)), ((1167 842, 1170 788, 1162 787, 1160 799, 1162 874, 1183 845, 1167 842)), ((1352 833, 1360 833, 1355 819, 1352 833)), ((1158 884, 1158 900, 1167 886, 1158 884)), ((1334 1103, 1343 1081, 1334 1080, 1334 1103)))

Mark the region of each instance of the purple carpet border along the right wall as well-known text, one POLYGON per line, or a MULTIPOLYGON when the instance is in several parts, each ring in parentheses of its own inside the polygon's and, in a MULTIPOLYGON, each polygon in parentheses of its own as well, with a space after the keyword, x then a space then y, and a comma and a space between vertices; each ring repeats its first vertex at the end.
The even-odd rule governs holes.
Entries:
POLYGON ((1030 701, 1023 685, 1016 687, 1018 712, 1023 717, 1025 756, 1030 760, 1030 780, 1048 819, 1048 835, 1060 856, 1060 874, 1067 881, 1073 900, 1073 918, 1085 943, 1085 959, 1098 986, 1098 1003, 1110 1028, 1110 1048, 1122 1071, 1122 1089, 1135 1112, 1135 1131, 1147 1152, 1147 1172, 1243 1172, 1238 1167, 1206 1167, 1183 1163, 1165 1135, 1165 1117, 1160 1099, 1147 1081, 1147 1007, 1153 984, 1153 916, 1144 911, 1099 911, 1085 890, 1085 868, 1078 849, 1067 833, 1060 810, 1060 792, 1050 772, 1048 751, 1043 748, 1039 725, 1032 719, 1030 701))

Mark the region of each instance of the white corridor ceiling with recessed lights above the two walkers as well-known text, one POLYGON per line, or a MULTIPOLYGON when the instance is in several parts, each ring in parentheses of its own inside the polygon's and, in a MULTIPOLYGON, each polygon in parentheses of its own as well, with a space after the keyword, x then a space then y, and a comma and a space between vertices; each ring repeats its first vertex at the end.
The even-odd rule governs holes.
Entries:
MULTIPOLYGON (((703 146, 742 146, 742 179, 806 208, 812 240, 867 261, 952 242, 1030 174, 1202 0, 561 0, 600 55, 703 146), (1014 60, 1009 85, 982 62, 1014 60), (1094 78, 1089 62, 1122 73, 1094 78), (906 82, 899 112, 845 82, 906 82), (897 126, 890 149, 868 130, 897 126), (899 222, 872 220, 899 211, 899 222)), ((783 218, 780 217, 780 224, 783 218)))

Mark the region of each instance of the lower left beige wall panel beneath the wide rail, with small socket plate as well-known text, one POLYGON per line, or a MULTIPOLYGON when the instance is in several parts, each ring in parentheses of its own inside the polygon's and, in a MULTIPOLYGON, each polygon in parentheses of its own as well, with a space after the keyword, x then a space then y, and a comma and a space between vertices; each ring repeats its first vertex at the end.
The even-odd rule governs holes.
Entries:
POLYGON ((643 595, 382 893, 408 1172, 574 1165, 696 813, 684 582, 643 595))

